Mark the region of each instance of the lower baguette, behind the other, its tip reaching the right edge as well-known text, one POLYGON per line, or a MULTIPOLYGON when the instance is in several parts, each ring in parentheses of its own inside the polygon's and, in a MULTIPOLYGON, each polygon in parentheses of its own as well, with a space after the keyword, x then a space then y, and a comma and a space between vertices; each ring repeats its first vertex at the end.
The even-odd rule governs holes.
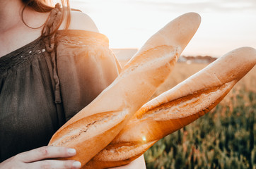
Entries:
POLYGON ((159 139, 209 112, 255 64, 256 50, 249 47, 217 59, 141 107, 85 168, 110 168, 133 161, 159 139))

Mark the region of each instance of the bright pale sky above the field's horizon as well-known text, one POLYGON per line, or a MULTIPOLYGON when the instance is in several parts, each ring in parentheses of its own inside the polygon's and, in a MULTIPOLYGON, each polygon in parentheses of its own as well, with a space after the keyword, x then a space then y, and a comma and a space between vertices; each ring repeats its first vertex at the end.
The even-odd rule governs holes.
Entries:
POLYGON ((110 40, 110 48, 140 48, 179 15, 196 12, 202 23, 184 56, 219 57, 256 48, 256 0, 70 0, 110 40))

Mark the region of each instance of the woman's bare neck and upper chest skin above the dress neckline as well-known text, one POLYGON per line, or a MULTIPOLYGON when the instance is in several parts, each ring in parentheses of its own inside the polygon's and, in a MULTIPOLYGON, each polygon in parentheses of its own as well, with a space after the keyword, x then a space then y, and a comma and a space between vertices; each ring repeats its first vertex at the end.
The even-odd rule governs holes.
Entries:
POLYGON ((24 8, 21 0, 0 0, 0 57, 32 42, 42 33, 42 27, 49 13, 39 13, 33 8, 24 8), (30 27, 40 27, 31 29, 30 27))

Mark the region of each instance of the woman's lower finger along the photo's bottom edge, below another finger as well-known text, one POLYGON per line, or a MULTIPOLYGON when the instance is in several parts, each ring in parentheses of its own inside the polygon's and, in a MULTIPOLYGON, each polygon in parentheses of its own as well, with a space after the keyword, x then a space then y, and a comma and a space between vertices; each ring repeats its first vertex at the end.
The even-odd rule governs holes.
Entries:
POLYGON ((81 168, 81 163, 78 161, 58 161, 45 160, 28 163, 28 168, 37 169, 78 169, 81 168))

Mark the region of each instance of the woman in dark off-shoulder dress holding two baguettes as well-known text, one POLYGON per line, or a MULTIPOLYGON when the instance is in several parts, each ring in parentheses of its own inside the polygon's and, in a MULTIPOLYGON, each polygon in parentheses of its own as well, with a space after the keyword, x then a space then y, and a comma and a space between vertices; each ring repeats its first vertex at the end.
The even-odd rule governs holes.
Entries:
MULTIPOLYGON (((108 40, 88 17, 44 0, 0 0, 0 168, 81 168, 52 134, 117 77, 108 40), (67 30, 65 30, 67 29, 67 30), (38 148, 39 147, 39 148, 38 148)), ((145 168, 138 158, 121 168, 145 168)))

